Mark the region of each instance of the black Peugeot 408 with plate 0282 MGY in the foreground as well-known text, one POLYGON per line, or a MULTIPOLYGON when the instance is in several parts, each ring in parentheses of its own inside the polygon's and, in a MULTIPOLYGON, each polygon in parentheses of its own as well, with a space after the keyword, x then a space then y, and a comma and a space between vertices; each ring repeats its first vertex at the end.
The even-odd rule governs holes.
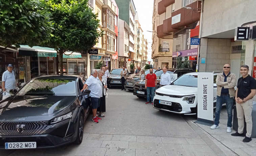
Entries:
POLYGON ((83 76, 39 76, 0 102, 0 148, 48 148, 83 141, 91 110, 83 76), (87 102, 85 102, 87 101, 87 102))

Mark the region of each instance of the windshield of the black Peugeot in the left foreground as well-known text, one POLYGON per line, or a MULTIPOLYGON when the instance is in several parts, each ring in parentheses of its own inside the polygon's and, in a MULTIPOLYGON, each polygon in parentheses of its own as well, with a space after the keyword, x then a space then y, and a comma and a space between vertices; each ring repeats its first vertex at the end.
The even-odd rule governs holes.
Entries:
POLYGON ((16 95, 73 96, 76 95, 76 83, 74 79, 32 79, 16 95))

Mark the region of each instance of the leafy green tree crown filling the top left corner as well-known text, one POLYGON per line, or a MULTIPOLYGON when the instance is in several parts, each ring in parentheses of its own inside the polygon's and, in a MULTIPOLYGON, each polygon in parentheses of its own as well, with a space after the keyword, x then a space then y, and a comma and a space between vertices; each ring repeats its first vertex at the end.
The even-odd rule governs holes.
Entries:
POLYGON ((53 27, 45 7, 44 0, 1 0, 0 45, 6 49, 20 44, 34 46, 47 40, 53 27))

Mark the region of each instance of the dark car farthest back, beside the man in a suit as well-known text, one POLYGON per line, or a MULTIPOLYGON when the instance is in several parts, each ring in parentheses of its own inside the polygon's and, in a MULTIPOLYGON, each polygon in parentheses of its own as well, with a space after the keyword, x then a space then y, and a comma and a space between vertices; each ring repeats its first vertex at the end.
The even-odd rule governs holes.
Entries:
MULTIPOLYGON (((122 86, 121 79, 120 79, 121 77, 120 73, 122 70, 123 68, 115 68, 110 71, 109 79, 108 79, 109 86, 122 86)), ((130 77, 131 74, 132 73, 127 70, 127 77, 130 77)))

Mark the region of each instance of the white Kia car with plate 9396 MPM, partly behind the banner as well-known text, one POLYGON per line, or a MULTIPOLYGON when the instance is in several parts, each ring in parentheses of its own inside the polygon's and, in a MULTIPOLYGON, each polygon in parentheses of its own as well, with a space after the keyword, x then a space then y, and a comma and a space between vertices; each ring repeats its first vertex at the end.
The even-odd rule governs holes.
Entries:
MULTIPOLYGON (((213 74, 213 107, 216 107, 218 73, 213 74)), ((153 108, 177 114, 197 115, 197 75, 198 72, 186 73, 156 90, 153 108)))

